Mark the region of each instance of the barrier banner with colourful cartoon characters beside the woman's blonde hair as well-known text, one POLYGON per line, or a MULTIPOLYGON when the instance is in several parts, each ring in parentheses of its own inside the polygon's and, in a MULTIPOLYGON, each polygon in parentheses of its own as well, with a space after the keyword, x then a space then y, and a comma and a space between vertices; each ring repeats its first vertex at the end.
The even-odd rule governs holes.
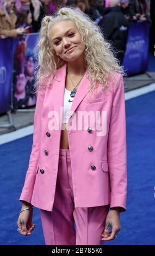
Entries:
POLYGON ((13 109, 34 106, 35 68, 34 58, 37 34, 25 35, 14 40, 13 109))

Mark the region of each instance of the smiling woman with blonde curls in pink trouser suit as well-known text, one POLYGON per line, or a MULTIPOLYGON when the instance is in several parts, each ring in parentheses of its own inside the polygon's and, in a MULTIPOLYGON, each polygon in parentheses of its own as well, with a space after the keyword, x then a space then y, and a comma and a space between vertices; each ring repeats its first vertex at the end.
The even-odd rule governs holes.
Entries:
POLYGON ((46 245, 100 245, 126 209, 122 69, 100 29, 72 8, 44 17, 39 67, 18 231, 32 233, 34 205, 46 245))

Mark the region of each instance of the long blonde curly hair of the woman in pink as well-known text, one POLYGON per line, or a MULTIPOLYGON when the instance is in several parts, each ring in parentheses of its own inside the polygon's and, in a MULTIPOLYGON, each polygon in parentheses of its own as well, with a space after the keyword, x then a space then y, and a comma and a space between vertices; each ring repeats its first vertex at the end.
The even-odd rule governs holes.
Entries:
POLYGON ((109 76, 115 79, 115 72, 123 75, 123 68, 114 57, 109 42, 104 40, 101 29, 86 14, 73 7, 60 8, 54 15, 45 16, 42 20, 36 46, 36 51, 39 50, 36 84, 45 88, 54 79, 56 70, 66 63, 56 55, 52 42, 49 40, 49 29, 55 23, 65 20, 75 22, 82 35, 82 41, 85 44, 85 68, 88 69, 90 82, 89 92, 96 94, 97 83, 102 84, 101 90, 103 90, 108 87, 109 76))

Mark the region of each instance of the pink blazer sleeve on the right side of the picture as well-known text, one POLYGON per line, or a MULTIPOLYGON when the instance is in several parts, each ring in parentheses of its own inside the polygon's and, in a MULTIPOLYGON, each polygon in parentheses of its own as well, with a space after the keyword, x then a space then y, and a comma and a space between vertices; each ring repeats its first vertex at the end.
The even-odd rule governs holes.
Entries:
POLYGON ((107 145, 111 187, 110 208, 121 207, 121 211, 125 211, 127 196, 127 156, 125 92, 122 75, 119 75, 115 85, 107 145))

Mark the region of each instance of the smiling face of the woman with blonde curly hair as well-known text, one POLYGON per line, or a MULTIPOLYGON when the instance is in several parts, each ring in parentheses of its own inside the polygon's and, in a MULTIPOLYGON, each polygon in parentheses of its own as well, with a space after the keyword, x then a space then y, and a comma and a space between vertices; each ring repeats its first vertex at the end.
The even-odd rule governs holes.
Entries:
POLYGON ((60 21, 49 29, 49 38, 55 53, 71 62, 84 54, 85 44, 73 21, 60 21))

